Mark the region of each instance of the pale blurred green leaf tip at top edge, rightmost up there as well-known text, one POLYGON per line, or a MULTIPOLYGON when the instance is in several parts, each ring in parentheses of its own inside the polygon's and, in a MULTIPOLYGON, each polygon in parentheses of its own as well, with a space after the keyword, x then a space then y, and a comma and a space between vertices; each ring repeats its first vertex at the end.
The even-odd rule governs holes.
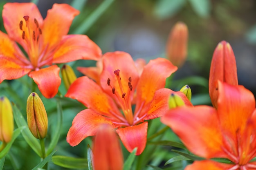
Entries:
POLYGON ((209 16, 210 9, 211 9, 210 0, 189 0, 189 1, 195 13, 197 13, 200 17, 206 18, 209 16))

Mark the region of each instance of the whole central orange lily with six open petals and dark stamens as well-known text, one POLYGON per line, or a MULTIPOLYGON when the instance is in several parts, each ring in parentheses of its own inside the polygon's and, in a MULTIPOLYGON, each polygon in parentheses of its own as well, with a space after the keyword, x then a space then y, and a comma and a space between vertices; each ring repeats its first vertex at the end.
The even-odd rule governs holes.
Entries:
POLYGON ((65 95, 88 107, 74 118, 67 142, 76 146, 86 137, 94 136, 101 124, 109 124, 117 128, 127 150, 132 152, 137 147, 136 154, 140 155, 146 146, 148 122, 145 120, 160 117, 168 110, 171 93, 177 93, 191 105, 182 92, 164 88, 166 78, 177 67, 164 58, 157 58, 150 60, 139 75, 132 57, 120 51, 104 54, 102 64, 100 84, 86 76, 79 77, 65 95), (135 91, 137 99, 133 112, 135 91))

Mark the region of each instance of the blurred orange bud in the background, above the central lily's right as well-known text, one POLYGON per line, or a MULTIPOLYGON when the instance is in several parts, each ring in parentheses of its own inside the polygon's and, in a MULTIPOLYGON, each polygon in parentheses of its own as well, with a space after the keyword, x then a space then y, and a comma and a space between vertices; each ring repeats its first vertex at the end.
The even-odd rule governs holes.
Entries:
POLYGON ((182 66, 186 60, 188 37, 188 27, 183 22, 177 22, 170 32, 166 43, 166 55, 177 67, 182 66))

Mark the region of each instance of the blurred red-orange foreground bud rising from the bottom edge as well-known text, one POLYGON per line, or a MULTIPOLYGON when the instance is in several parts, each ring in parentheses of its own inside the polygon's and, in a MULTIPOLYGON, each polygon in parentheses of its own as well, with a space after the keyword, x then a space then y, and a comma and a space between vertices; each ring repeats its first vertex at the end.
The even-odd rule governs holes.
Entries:
POLYGON ((93 143, 94 170, 122 170, 124 158, 114 130, 108 125, 99 128, 93 143))

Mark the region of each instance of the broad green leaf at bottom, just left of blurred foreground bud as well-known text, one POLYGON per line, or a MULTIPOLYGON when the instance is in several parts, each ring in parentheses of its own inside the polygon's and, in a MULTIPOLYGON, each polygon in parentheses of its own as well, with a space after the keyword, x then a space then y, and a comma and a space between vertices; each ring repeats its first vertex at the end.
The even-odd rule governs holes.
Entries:
POLYGON ((55 165, 70 169, 82 169, 88 167, 87 159, 67 157, 62 155, 53 156, 52 162, 55 165))

